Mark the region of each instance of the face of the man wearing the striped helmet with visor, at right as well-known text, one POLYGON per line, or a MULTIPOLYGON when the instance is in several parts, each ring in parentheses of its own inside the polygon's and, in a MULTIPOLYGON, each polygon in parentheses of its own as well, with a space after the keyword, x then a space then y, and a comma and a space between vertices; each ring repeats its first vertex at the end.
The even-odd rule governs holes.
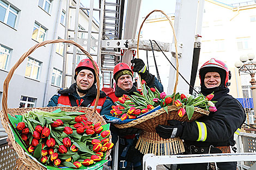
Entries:
POLYGON ((208 72, 204 77, 204 85, 206 88, 218 87, 221 84, 221 76, 217 72, 208 72))

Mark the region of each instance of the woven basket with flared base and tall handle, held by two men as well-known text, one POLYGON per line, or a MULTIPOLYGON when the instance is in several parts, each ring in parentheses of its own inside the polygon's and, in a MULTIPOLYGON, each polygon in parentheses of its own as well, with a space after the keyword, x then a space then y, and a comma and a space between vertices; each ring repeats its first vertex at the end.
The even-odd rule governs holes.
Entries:
MULTIPOLYGON (((176 88, 178 86, 178 77, 179 77, 178 48, 177 48, 177 40, 176 40, 174 27, 169 17, 166 14, 164 14, 164 12, 161 10, 151 11, 145 17, 144 21, 141 24, 141 27, 139 28, 137 43, 139 42, 139 34, 141 33, 143 23, 145 22, 145 20, 147 20, 149 15, 152 14, 153 12, 161 12, 164 16, 166 16, 173 30, 174 43, 175 43, 175 59, 176 59, 176 81, 174 86, 174 94, 175 94, 176 88)), ((137 44, 137 55, 139 55, 138 48, 139 46, 137 44)), ((139 79, 141 81, 141 78, 139 79)), ((200 108, 195 108, 192 118, 188 120, 188 117, 186 114, 183 117, 178 116, 179 109, 180 109, 179 107, 172 105, 172 106, 168 106, 168 113, 163 108, 161 108, 160 110, 157 110, 149 115, 143 116, 129 123, 114 124, 114 125, 115 127, 120 129, 129 128, 129 127, 142 129, 143 132, 139 134, 139 140, 137 142, 136 148, 139 149, 139 151, 143 154, 147 154, 147 153, 153 153, 155 155, 179 154, 179 153, 185 152, 184 144, 182 140, 179 137, 169 138, 169 139, 164 139, 160 137, 155 130, 157 125, 159 124, 167 125, 168 124, 167 121, 171 119, 175 119, 181 122, 191 122, 196 120, 199 117, 209 114, 209 111, 205 111, 200 108)))

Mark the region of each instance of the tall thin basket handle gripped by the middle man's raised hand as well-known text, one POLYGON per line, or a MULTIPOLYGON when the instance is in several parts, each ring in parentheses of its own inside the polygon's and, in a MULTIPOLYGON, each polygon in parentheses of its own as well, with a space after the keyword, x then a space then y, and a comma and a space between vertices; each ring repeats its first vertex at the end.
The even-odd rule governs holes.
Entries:
MULTIPOLYGON (((175 58, 176 58, 176 81, 175 81, 175 86, 174 86, 174 97, 175 97, 176 89, 178 86, 178 78, 179 78, 179 61, 178 61, 178 43, 177 43, 176 34, 175 34, 175 30, 174 30, 172 21, 163 11, 157 10, 157 9, 153 10, 153 11, 149 12, 149 14, 145 17, 144 21, 142 22, 141 27, 139 28, 139 34, 141 34, 141 29, 142 29, 144 22, 147 20, 149 15, 152 14, 153 12, 161 12, 164 16, 166 16, 167 20, 170 23, 170 26, 172 26, 173 36, 174 36, 174 44, 175 44, 175 58)), ((138 58, 139 58, 139 34, 138 34, 138 41, 137 41, 137 56, 138 56, 138 58)), ((139 81, 141 81, 140 75, 139 75, 139 81)))

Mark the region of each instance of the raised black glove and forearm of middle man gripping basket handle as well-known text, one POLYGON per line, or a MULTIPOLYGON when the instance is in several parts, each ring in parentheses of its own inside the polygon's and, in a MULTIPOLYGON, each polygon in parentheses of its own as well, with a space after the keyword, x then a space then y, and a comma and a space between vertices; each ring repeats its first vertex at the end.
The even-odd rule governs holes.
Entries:
POLYGON ((135 64, 133 66, 132 71, 138 72, 141 75, 141 78, 147 82, 148 86, 153 87, 155 76, 149 73, 143 60, 142 59, 133 59, 133 60, 131 60, 131 63, 135 64))

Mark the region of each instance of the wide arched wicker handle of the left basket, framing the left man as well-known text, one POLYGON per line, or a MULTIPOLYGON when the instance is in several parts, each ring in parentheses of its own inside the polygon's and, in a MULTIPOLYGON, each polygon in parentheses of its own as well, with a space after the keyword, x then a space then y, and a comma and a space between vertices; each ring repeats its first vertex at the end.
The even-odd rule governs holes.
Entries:
MULTIPOLYGON (((47 40, 47 41, 43 41, 43 42, 40 42, 40 43, 34 45, 26 53, 24 53, 21 56, 21 58, 16 62, 16 64, 11 68, 11 70, 9 71, 7 77, 4 80, 2 108, 3 108, 3 112, 4 112, 4 118, 6 120, 8 120, 8 122, 9 122, 9 118, 8 118, 8 106, 7 106, 7 98, 8 97, 7 97, 7 95, 8 95, 9 82, 11 80, 11 77, 13 77, 14 71, 27 58, 28 55, 30 55, 31 53, 33 53, 35 51, 36 48, 39 48, 41 46, 44 46, 44 45, 47 45, 47 44, 50 44, 50 43, 58 43, 58 42, 71 43, 72 45, 75 45, 76 47, 80 48, 81 51, 88 56, 90 61, 92 61, 95 72, 98 71, 97 66, 96 66, 92 56, 90 56, 90 54, 82 46, 80 46, 78 43, 76 43, 74 41, 63 40, 63 39, 47 40)), ((96 81, 97 81, 97 96, 96 96, 96 101, 95 101, 95 105, 94 105, 94 108, 93 108, 93 112, 95 112, 96 106, 97 106, 97 104, 99 102, 99 98, 100 98, 100 80, 99 80, 99 75, 98 74, 95 74, 95 75, 96 75, 96 81)))

